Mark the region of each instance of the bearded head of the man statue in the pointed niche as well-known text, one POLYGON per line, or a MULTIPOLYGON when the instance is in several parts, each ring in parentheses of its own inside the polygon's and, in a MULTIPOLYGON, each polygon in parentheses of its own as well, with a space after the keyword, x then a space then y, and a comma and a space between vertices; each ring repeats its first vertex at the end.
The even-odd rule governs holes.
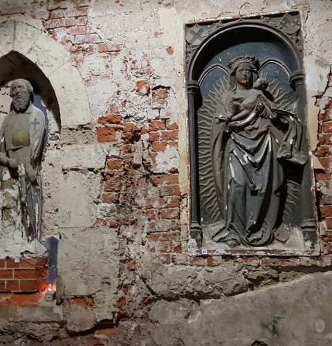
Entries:
POLYGON ((33 102, 33 86, 28 80, 18 79, 10 86, 10 97, 15 111, 22 113, 33 102))

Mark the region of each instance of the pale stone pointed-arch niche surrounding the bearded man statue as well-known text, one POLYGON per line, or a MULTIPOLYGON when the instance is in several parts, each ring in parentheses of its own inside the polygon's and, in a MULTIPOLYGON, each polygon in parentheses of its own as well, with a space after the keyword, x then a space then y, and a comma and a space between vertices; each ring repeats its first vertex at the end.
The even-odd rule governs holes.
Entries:
MULTIPOLYGON (((61 131, 91 121, 84 83, 70 60, 69 53, 61 44, 42 30, 16 21, 0 24, 0 122, 10 107, 10 82, 17 78, 33 84, 35 93, 47 109, 48 143, 42 163, 44 210, 39 234, 41 242, 52 236, 58 237, 59 206, 62 203, 60 183, 63 179, 61 131)), ((1 258, 17 257, 24 251, 33 256, 42 255, 43 249, 39 245, 18 239, 19 235, 10 237, 17 241, 17 246, 3 246, 1 258)))

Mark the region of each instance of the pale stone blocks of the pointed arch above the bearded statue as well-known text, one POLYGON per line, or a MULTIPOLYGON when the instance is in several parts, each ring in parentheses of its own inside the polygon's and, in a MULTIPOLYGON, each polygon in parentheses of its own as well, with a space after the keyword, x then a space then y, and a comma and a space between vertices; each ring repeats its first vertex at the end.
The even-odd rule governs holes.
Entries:
MULTIPOLYGON (((61 44, 33 26, 17 21, 0 25, 0 55, 18 53, 42 71, 53 86, 59 101, 62 127, 77 127, 90 122, 89 100, 80 73, 61 44)), ((15 61, 8 59, 1 70, 10 71, 15 61)))

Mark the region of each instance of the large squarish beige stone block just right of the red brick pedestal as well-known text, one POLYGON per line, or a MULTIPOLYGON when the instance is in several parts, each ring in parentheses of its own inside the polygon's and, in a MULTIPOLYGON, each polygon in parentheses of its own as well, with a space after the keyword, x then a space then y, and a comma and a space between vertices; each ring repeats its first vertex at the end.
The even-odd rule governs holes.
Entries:
POLYGON ((89 295, 107 288, 110 300, 119 275, 119 242, 114 230, 62 228, 59 244, 59 275, 66 295, 89 295))

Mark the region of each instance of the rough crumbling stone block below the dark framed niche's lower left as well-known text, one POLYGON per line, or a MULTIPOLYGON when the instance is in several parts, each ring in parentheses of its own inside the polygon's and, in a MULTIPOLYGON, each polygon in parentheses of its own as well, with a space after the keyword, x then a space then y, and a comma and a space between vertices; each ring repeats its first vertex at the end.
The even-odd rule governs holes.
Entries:
POLYGON ((221 297, 248 289, 246 279, 229 267, 162 266, 145 262, 142 277, 154 294, 165 299, 221 297))

